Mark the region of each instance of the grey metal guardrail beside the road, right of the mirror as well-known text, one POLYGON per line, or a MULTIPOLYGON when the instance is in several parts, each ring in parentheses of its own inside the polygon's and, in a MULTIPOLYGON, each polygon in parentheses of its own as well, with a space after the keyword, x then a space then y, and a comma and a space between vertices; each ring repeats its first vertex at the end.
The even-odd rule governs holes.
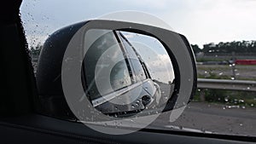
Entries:
POLYGON ((256 92, 256 81, 198 78, 197 88, 230 89, 256 92))

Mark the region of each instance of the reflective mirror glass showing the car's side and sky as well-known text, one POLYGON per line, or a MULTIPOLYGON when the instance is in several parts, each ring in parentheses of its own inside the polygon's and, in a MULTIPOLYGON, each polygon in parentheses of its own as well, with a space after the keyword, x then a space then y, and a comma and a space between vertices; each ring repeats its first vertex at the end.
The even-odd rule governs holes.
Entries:
POLYGON ((104 114, 157 112, 172 96, 172 61, 154 37, 92 29, 85 33, 84 53, 84 92, 104 114))

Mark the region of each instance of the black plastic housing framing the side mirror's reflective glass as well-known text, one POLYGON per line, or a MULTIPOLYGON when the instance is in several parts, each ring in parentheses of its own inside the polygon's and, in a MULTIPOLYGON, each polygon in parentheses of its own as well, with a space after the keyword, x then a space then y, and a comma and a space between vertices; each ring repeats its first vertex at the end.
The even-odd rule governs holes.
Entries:
POLYGON ((49 115, 61 113, 57 117, 70 118, 74 114, 78 118, 79 114, 76 112, 87 111, 84 103, 80 102, 84 91, 86 94, 81 72, 86 53, 83 48, 85 34, 93 29, 134 32, 159 40, 172 61, 175 75, 172 95, 160 112, 184 107, 192 99, 197 80, 195 56, 186 37, 155 26, 124 21, 89 20, 55 32, 44 43, 36 78, 38 92, 45 106, 44 111, 49 115), (70 90, 71 88, 73 89, 70 90))

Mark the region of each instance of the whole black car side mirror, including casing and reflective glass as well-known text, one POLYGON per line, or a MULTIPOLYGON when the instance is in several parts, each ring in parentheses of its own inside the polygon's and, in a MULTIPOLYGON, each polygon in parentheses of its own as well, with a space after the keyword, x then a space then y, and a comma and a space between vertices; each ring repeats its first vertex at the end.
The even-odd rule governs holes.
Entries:
POLYGON ((52 104, 58 97, 76 118, 84 111, 123 118, 184 107, 196 79, 186 37, 113 20, 89 20, 55 32, 44 43, 37 71, 39 95, 59 95, 44 98, 55 106, 49 112, 61 109, 52 104))

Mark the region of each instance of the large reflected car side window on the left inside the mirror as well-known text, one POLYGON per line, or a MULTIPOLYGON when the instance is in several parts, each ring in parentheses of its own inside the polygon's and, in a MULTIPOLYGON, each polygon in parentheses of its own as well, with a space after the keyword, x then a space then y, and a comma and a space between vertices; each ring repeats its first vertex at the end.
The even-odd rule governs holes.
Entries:
POLYGON ((97 97, 101 97, 101 95, 112 92, 113 89, 120 89, 130 85, 131 79, 124 60, 124 54, 119 47, 114 33, 111 31, 102 33, 98 30, 90 30, 86 33, 84 38, 88 35, 91 36, 91 33, 97 38, 91 43, 84 56, 84 77, 90 99, 96 99, 97 97), (119 63, 113 66, 113 61, 119 61, 119 63), (108 70, 112 66, 113 72, 111 72, 110 80, 113 89, 108 87, 108 79, 106 79, 108 77, 106 73, 104 73, 105 70, 108 70), (97 89, 95 78, 97 78, 102 85, 102 94, 100 94, 97 89))

